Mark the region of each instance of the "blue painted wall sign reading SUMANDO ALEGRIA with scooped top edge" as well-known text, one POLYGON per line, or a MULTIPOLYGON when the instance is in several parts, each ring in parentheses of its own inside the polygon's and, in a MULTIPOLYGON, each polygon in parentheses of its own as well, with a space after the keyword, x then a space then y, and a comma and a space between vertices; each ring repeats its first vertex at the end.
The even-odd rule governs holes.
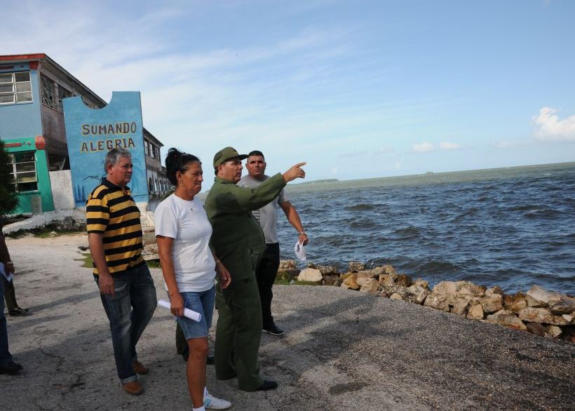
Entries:
POLYGON ((147 202, 140 92, 114 91, 102 109, 86 107, 81 97, 65 98, 63 102, 76 207, 86 204, 90 192, 105 177, 104 159, 116 146, 132 154, 134 167, 128 187, 134 200, 147 202))

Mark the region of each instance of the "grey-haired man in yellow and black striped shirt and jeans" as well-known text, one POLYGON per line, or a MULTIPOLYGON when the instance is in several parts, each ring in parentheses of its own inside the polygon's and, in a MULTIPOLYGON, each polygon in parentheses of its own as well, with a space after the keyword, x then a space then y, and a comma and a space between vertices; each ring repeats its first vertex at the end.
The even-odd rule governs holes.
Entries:
POLYGON ((126 185, 132 168, 130 151, 108 152, 107 175, 86 201, 86 229, 118 377, 127 393, 138 395, 144 390, 137 374, 148 369, 137 360, 136 343, 156 309, 156 288, 142 258, 140 210, 126 185))

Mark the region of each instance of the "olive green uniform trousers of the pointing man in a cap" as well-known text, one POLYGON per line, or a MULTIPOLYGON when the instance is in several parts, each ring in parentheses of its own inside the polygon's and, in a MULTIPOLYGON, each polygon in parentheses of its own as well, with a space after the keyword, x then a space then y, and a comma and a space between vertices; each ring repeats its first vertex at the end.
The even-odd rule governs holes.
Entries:
POLYGON ((225 290, 216 288, 218 318, 215 341, 217 379, 238 377, 239 389, 255 391, 259 375, 257 352, 262 338, 262 306, 255 274, 232 280, 225 290))

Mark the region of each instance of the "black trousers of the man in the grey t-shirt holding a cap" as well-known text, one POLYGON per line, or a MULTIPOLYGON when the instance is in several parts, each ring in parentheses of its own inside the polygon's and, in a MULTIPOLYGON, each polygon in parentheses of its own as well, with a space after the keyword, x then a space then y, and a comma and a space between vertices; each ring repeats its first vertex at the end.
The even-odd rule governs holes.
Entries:
POLYGON ((271 288, 276 281, 278 268, 280 267, 280 245, 279 243, 266 244, 266 250, 260 260, 255 276, 257 279, 257 288, 259 290, 259 299, 262 302, 262 324, 264 327, 273 325, 273 316, 271 315, 271 299, 273 292, 271 288))

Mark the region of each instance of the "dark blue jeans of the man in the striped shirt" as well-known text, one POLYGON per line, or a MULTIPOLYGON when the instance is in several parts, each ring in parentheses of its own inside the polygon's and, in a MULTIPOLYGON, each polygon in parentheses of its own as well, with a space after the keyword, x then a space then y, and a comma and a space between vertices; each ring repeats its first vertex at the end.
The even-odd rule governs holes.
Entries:
POLYGON ((156 309, 156 287, 146 264, 113 278, 115 295, 100 294, 100 298, 110 321, 118 377, 126 384, 137 379, 136 344, 156 309))

